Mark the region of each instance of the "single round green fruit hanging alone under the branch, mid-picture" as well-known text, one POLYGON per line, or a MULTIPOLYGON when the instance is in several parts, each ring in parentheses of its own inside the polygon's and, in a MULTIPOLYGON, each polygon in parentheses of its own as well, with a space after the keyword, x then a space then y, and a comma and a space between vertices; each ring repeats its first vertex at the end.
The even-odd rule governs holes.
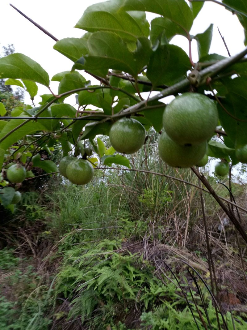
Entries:
POLYGON ((144 144, 146 131, 139 121, 133 118, 122 118, 111 126, 109 137, 116 151, 133 153, 144 144))

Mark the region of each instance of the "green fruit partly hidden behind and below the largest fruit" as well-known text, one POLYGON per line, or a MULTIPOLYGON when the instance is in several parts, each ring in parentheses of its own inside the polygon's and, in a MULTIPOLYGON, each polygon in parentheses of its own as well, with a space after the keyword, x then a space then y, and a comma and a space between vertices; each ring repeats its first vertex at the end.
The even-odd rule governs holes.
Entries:
POLYGON ((173 167, 191 167, 196 165, 205 155, 207 143, 181 146, 173 141, 166 132, 159 138, 159 155, 164 162, 173 167))

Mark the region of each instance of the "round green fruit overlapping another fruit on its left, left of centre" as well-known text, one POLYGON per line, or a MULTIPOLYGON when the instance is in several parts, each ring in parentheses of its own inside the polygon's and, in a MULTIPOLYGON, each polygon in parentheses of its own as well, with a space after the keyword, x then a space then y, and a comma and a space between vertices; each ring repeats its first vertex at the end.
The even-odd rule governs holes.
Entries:
POLYGON ((74 184, 86 184, 94 177, 94 168, 85 159, 71 161, 66 169, 66 176, 74 184))

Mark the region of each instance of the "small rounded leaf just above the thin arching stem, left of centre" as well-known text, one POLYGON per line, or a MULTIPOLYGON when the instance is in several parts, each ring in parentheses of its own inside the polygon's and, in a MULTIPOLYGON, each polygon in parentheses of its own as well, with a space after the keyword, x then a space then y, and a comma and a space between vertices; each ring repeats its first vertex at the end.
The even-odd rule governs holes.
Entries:
MULTIPOLYGON (((58 93, 62 94, 72 89, 85 87, 86 79, 77 71, 68 73, 64 76, 58 86, 58 93)), ((79 92, 77 92, 79 93, 79 92)), ((66 96, 68 97, 69 94, 66 96)))

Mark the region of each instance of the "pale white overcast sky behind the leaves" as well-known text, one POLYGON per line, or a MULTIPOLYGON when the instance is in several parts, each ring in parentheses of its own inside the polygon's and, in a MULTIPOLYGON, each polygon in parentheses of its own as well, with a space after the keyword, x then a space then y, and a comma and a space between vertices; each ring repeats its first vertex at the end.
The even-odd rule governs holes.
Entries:
MULTIPOLYGON (((84 10, 97 0, 10 0, 20 11, 32 18, 43 28, 48 30, 56 38, 81 37, 86 31, 76 29, 73 26, 83 15, 84 10)), ((54 50, 54 40, 45 35, 27 19, 16 12, 7 0, 0 0, 1 13, 1 34, 0 46, 14 44, 15 51, 23 53, 41 64, 51 78, 54 74, 70 70, 72 62, 65 56, 54 50)), ((152 19, 148 14, 148 19, 152 19)), ((222 6, 206 2, 201 13, 196 18, 191 34, 202 33, 214 23, 214 35, 210 52, 228 56, 223 41, 218 33, 225 37, 231 55, 244 48, 243 29, 236 16, 226 11, 222 6)), ((181 36, 176 36, 173 43, 188 51, 188 42, 181 36)), ((1 50, 1 49, 0 49, 1 50)), ((193 41, 193 60, 197 61, 196 42, 193 41)), ((86 77, 87 78, 87 77, 86 77)), ((88 79, 88 78, 87 78, 88 79)), ((51 85, 56 92, 57 85, 51 85)), ((38 94, 48 93, 48 90, 41 87, 38 94)), ((28 97, 25 99, 28 102, 28 97)), ((39 102, 40 98, 36 98, 39 102)))

